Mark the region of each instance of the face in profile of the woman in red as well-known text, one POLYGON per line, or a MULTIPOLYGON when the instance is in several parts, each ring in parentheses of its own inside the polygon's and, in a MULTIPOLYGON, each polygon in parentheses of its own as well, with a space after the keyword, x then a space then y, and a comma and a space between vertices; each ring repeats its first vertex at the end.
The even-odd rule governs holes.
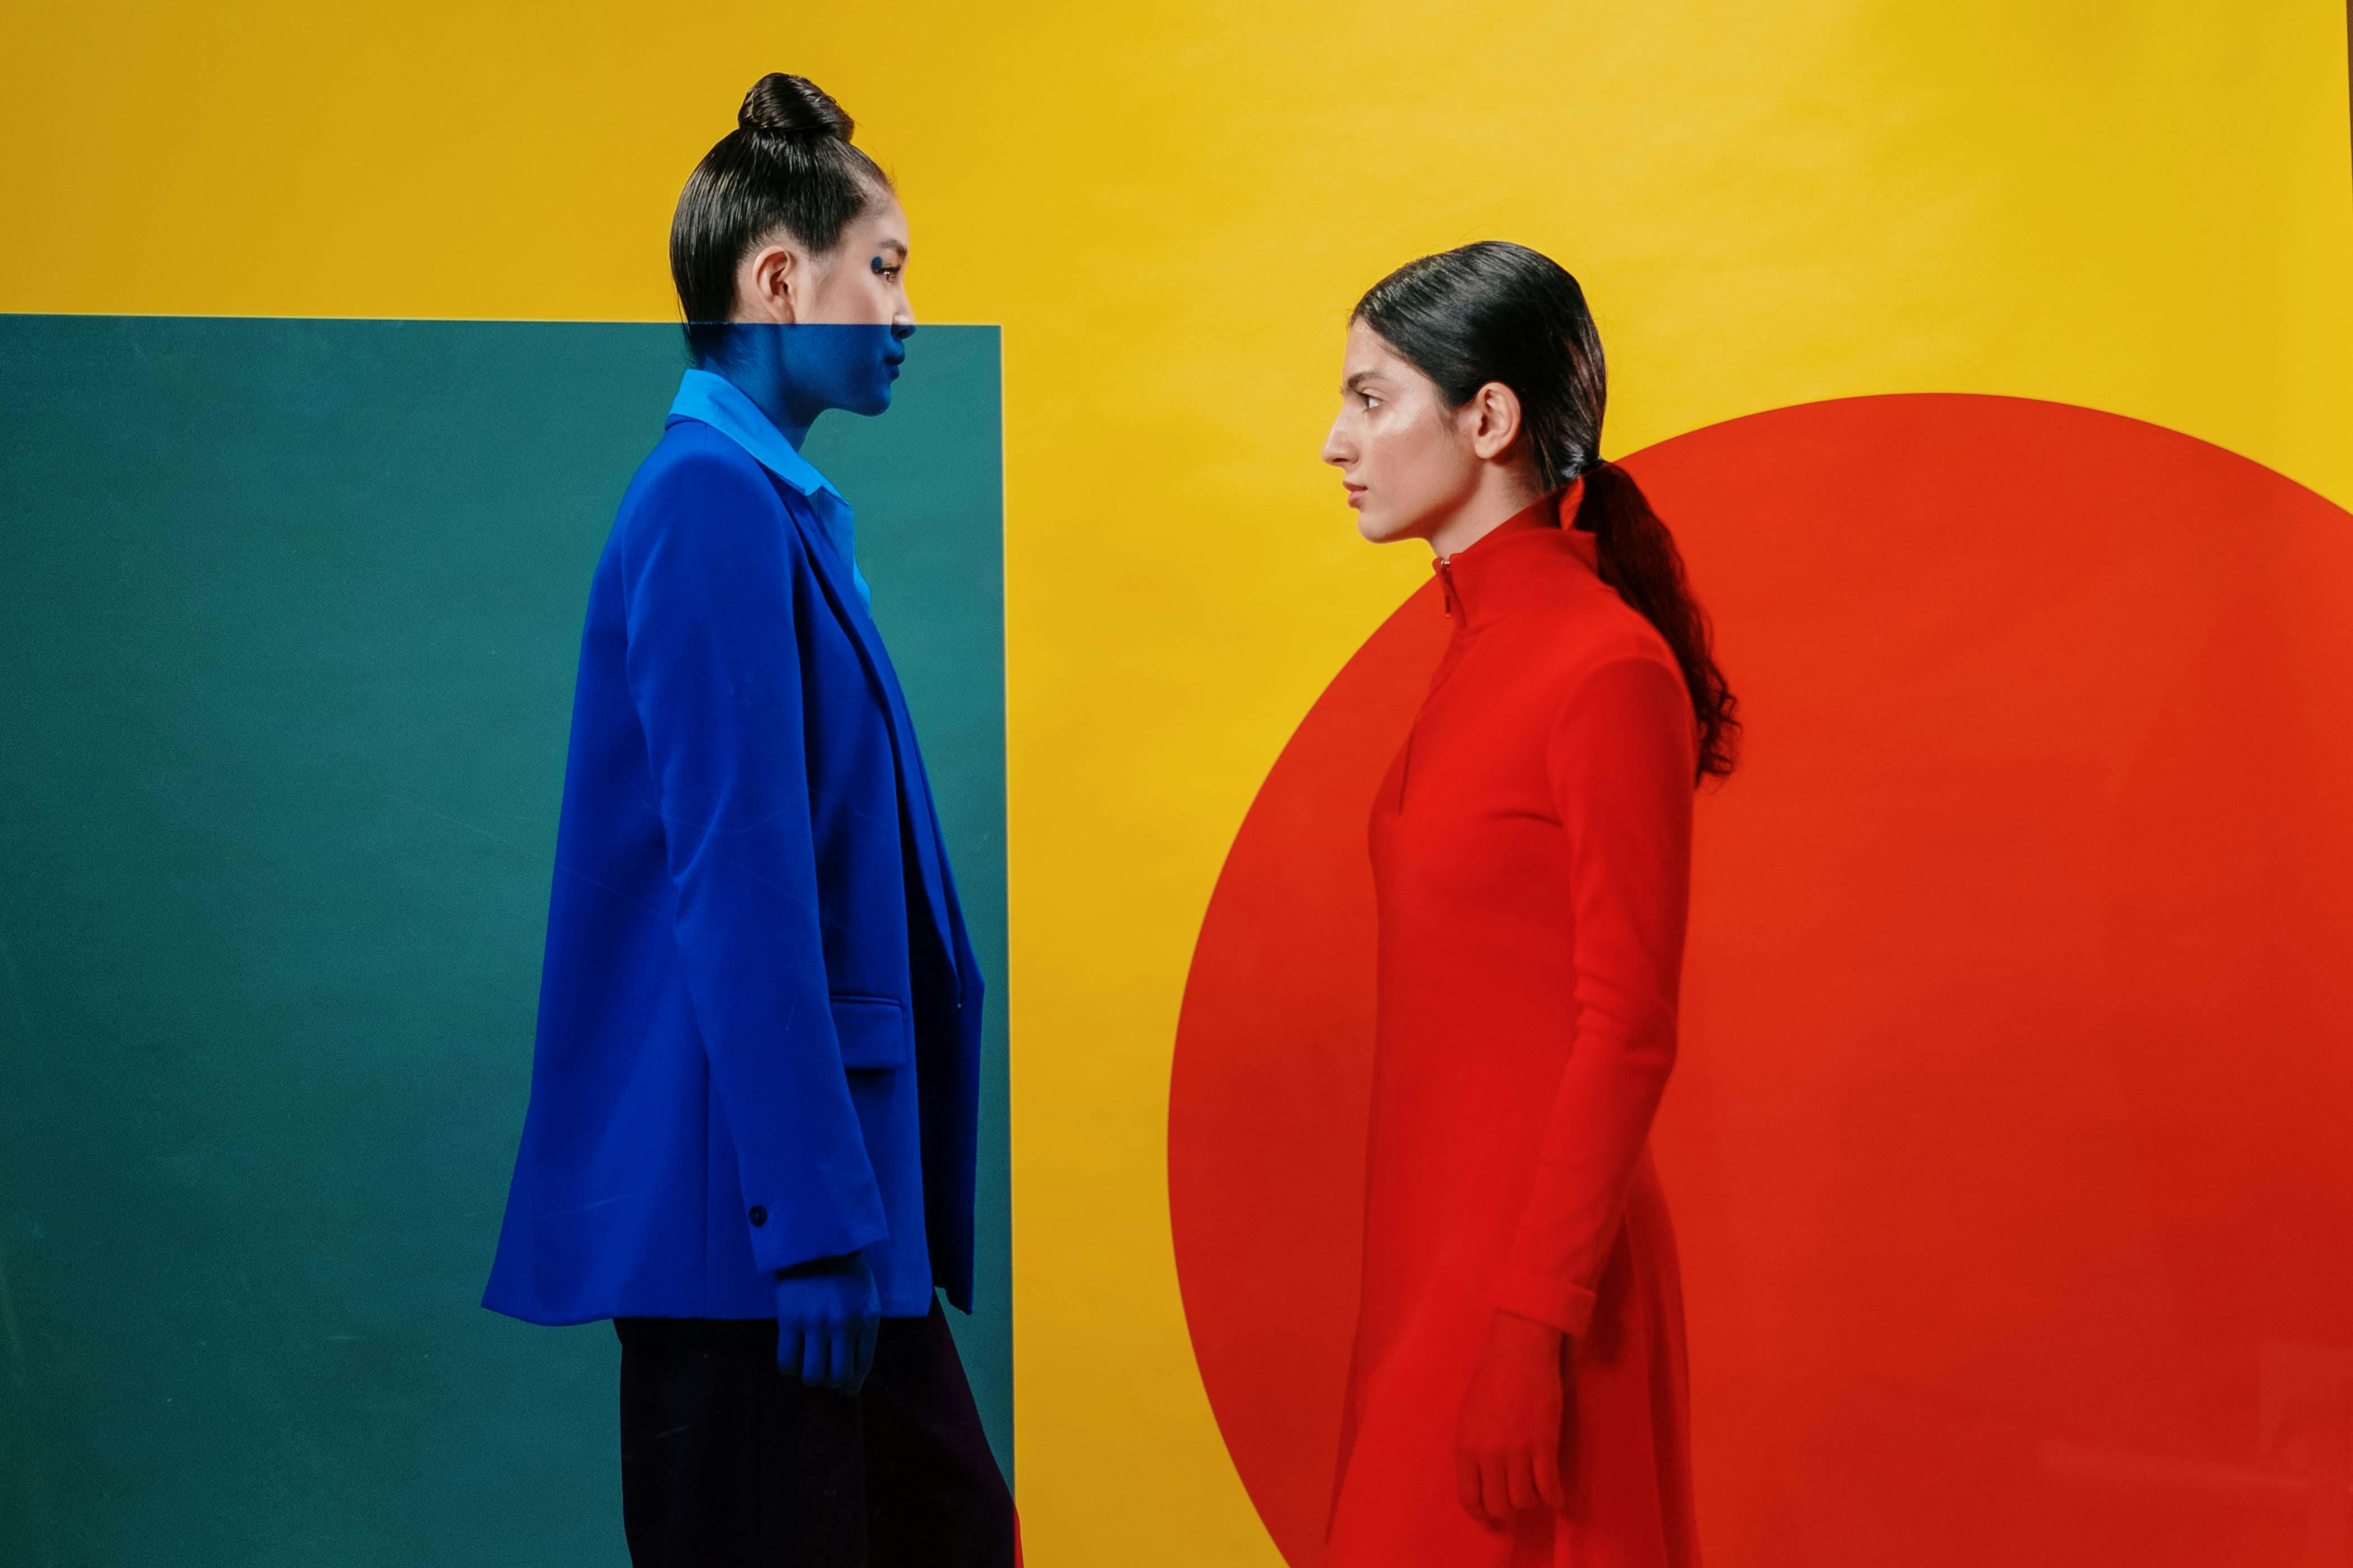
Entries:
POLYGON ((1428 538, 1478 487, 1480 468, 1438 386, 1365 322, 1348 324, 1322 461, 1339 468, 1355 527, 1377 545, 1428 538))

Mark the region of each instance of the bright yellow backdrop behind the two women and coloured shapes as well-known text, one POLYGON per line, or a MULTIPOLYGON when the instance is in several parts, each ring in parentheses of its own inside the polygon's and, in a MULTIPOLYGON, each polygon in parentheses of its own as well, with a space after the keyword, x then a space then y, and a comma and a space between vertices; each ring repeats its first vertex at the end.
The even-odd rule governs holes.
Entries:
POLYGON ((1489 235, 1560 256, 1612 456, 2012 393, 2353 505, 2337 0, 193 9, 0 19, 0 308, 666 320, 678 186, 784 68, 899 176, 918 310, 1005 324, 1016 1441, 1049 1568, 1273 1561, 1186 1342, 1162 1112, 1226 842, 1424 574, 1315 465, 1365 284, 1489 235))

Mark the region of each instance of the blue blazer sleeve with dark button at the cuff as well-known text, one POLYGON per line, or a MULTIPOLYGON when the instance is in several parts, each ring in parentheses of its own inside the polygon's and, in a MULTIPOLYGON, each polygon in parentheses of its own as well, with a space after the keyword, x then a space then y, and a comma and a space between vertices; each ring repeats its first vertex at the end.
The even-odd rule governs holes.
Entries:
POLYGON ((621 541, 628 689, 645 726, 694 1023, 781 1269, 887 1237, 828 1009, 793 590, 809 562, 758 473, 668 470, 621 541))

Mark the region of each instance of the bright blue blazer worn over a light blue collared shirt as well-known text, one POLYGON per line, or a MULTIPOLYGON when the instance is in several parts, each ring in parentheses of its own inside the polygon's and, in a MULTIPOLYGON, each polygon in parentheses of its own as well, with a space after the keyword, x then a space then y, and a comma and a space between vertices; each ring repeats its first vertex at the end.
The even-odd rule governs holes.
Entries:
POLYGON ((864 1251, 887 1316, 972 1309, 981 976, 826 503, 675 411, 621 498, 485 1307, 774 1316, 864 1251))

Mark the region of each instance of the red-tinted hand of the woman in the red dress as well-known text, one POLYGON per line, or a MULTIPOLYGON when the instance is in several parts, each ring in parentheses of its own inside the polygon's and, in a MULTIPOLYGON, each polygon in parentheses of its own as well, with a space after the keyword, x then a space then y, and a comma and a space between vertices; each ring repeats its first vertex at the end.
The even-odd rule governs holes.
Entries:
POLYGON ((1489 1530, 1539 1502, 1567 1512, 1560 1481, 1567 1335, 1551 1324, 1497 1312, 1454 1427, 1454 1490, 1489 1530))

